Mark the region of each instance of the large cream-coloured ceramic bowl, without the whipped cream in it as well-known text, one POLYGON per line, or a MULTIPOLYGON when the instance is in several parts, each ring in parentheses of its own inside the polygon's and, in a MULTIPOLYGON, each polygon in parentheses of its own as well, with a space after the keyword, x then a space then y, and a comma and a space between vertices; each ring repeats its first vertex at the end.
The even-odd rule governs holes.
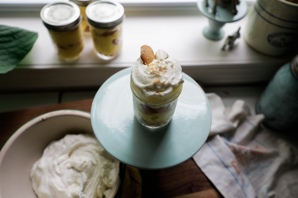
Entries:
MULTIPOLYGON (((30 171, 52 141, 69 133, 93 133, 90 113, 58 110, 40 115, 21 126, 0 151, 0 198, 37 197, 32 189, 30 171)), ((119 191, 123 164, 109 197, 119 191)))

